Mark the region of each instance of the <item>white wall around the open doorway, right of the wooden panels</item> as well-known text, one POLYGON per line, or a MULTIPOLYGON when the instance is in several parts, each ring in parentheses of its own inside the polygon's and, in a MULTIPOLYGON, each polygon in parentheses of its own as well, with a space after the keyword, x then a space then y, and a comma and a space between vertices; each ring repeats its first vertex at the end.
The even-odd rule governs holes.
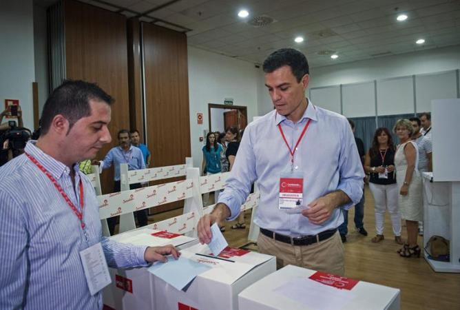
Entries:
POLYGON ((233 98, 233 105, 247 106, 248 122, 258 116, 258 81, 260 69, 252 63, 188 47, 191 156, 194 166, 202 161, 199 141, 209 128, 208 103, 223 104, 233 98), (196 114, 203 114, 198 125, 196 114))

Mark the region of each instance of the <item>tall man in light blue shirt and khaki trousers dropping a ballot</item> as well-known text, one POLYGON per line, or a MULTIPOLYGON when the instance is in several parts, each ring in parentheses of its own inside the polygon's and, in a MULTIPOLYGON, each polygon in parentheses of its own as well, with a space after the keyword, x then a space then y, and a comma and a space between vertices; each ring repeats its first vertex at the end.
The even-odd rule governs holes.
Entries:
POLYGON ((257 180, 259 250, 277 256, 278 267, 343 275, 339 208, 359 202, 364 178, 353 132, 344 116, 305 98, 309 66, 301 52, 273 52, 263 69, 275 110, 244 130, 227 187, 212 213, 200 219, 198 236, 209 243, 210 225, 236 218, 257 180), (280 198, 280 178, 286 177, 302 179, 301 206, 290 211, 282 209, 280 198))

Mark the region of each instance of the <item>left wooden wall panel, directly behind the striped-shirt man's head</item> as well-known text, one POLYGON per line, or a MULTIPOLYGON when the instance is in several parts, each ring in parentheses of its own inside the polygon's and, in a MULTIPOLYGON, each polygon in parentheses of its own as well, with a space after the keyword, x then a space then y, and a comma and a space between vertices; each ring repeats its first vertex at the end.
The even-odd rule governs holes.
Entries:
MULTIPOLYGON (((67 79, 97 83, 114 97, 109 130, 112 143, 101 149, 102 159, 118 144, 116 133, 129 129, 126 17, 78 1, 65 0, 67 79)), ((113 169, 102 175, 103 192, 112 192, 113 169)))

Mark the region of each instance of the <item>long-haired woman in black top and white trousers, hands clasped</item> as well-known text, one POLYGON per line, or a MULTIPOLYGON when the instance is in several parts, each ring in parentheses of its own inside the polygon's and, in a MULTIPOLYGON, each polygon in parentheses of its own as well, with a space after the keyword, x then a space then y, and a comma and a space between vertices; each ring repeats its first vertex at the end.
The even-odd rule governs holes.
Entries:
POLYGON ((372 242, 384 240, 385 211, 388 209, 395 242, 402 245, 401 214, 398 207, 399 189, 395 178, 395 145, 387 128, 379 127, 375 130, 372 147, 366 154, 364 169, 367 174, 370 174, 369 188, 375 202, 377 236, 372 238, 372 242))

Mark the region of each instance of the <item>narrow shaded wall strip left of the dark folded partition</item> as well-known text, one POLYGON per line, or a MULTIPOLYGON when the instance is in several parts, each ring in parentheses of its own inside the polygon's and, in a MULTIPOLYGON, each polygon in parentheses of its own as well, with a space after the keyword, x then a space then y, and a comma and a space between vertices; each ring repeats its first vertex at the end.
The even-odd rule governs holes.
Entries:
POLYGON ((46 9, 34 5, 34 59, 35 81, 39 88, 39 117, 48 99, 48 34, 46 9))

